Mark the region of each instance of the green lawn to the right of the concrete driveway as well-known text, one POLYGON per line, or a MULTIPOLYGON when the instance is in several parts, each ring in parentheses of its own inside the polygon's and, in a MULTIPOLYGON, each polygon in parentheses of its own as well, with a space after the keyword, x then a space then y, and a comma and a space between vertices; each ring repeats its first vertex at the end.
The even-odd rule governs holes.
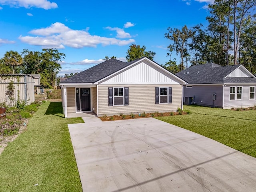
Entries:
POLYGON ((192 114, 157 117, 256 157, 256 110, 184 106, 192 114))

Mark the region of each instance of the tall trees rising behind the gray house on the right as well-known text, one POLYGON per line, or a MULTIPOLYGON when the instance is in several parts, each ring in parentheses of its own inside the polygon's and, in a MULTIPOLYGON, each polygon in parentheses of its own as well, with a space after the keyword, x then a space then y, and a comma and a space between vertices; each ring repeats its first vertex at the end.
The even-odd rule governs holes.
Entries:
POLYGON ((176 73, 188 64, 244 65, 256 73, 256 0, 215 0, 208 5, 208 26, 168 28, 165 38, 171 40, 163 66, 176 73), (172 53, 180 56, 177 64, 172 53))

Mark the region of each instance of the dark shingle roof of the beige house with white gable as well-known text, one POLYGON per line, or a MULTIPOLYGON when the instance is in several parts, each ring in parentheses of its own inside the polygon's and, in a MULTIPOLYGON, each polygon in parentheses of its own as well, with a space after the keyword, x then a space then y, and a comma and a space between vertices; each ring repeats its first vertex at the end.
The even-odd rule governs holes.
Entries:
POLYGON ((131 62, 122 62, 120 60, 111 58, 70 78, 67 78, 60 83, 94 83, 113 74, 114 72, 117 72, 118 70, 121 70, 122 68, 125 68, 126 66, 129 66, 137 60, 131 62))

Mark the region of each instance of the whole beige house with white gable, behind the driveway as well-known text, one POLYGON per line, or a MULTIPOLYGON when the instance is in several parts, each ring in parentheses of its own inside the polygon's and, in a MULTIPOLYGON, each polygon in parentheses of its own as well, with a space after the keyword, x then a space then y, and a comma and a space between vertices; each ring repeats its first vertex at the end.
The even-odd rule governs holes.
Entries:
POLYGON ((132 62, 111 58, 60 82, 65 117, 175 111, 183 106, 184 84, 146 57, 132 62))

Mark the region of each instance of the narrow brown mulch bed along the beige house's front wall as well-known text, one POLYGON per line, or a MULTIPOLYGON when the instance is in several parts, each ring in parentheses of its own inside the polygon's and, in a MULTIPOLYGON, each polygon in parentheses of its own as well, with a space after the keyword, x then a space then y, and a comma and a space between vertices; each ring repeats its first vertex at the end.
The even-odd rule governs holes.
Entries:
POLYGON ((102 116, 99 117, 102 121, 114 121, 114 120, 124 120, 124 119, 138 119, 138 118, 148 118, 148 117, 165 117, 165 116, 175 116, 175 115, 185 115, 189 114, 189 112, 165 112, 165 113, 141 113, 141 114, 129 114, 129 115, 114 115, 114 116, 102 116))

